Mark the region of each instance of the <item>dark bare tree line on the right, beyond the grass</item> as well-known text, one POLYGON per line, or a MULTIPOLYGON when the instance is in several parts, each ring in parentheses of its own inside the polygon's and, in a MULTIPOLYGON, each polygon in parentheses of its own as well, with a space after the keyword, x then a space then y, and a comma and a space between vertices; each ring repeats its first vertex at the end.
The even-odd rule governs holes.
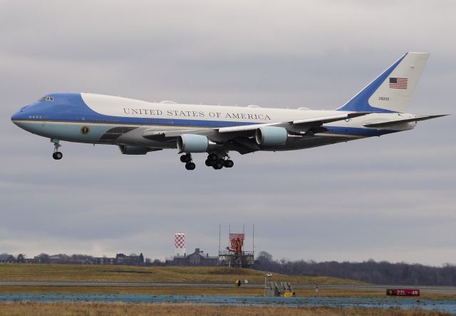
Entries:
POLYGON ((417 263, 389 263, 374 260, 362 263, 286 259, 274 260, 272 255, 261 251, 254 269, 285 275, 343 277, 381 285, 447 285, 456 286, 456 265, 432 267, 417 263))

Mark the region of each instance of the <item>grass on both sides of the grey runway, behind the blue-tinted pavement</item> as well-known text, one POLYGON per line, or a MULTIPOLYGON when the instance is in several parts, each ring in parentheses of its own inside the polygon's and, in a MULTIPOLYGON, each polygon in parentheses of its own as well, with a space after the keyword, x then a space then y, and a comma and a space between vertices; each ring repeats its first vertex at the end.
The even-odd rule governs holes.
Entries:
MULTIPOLYGON (((263 296, 262 288, 234 286, 234 280, 249 280, 263 284, 264 273, 258 270, 228 267, 128 267, 119 265, 31 265, 0 263, 2 281, 109 281, 109 282, 177 282, 227 283, 232 287, 120 287, 120 286, 37 286, 2 285, 0 293, 94 293, 94 294, 151 294, 151 295, 232 295, 263 296)), ((274 274, 276 281, 297 284, 362 285, 363 282, 335 277, 289 277, 274 274)), ((314 297, 311 288, 295 289, 296 296, 314 297)), ((320 297, 385 297, 383 290, 327 289, 320 287, 320 297)), ((421 292, 421 298, 456 300, 456 295, 421 292)))

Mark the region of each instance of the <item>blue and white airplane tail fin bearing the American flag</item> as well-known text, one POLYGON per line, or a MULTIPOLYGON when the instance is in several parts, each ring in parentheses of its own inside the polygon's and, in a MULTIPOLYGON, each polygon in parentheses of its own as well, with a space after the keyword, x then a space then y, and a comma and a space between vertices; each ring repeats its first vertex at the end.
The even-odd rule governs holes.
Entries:
POLYGON ((339 111, 405 112, 429 53, 405 53, 339 111))

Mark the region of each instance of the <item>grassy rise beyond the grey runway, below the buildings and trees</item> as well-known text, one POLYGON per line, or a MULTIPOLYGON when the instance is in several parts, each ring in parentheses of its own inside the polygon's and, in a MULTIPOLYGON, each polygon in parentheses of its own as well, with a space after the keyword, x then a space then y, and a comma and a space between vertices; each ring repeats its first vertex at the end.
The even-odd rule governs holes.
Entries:
MULTIPOLYGON (((247 279, 264 282, 258 270, 234 267, 129 267, 120 265, 36 265, 0 263, 2 281, 110 281, 234 283, 247 279)), ((365 284, 337 277, 306 277, 274 274, 274 280, 294 284, 365 284)))

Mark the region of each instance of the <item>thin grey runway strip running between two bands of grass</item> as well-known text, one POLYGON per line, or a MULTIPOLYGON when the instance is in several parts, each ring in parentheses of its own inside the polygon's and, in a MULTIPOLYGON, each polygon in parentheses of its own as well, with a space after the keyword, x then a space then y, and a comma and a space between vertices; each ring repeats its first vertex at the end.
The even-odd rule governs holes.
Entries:
MULTIPOLYGON (((93 287, 234 287, 230 283, 175 283, 175 282, 105 282, 105 281, 0 281, 0 286, 93 286, 93 287)), ((242 287, 263 288, 264 284, 246 284, 242 287)), ((314 284, 293 284, 295 289, 314 288, 314 284)), ((456 287, 415 285, 318 285, 323 289, 380 291, 387 288, 413 288, 422 292, 456 295, 456 287)))

